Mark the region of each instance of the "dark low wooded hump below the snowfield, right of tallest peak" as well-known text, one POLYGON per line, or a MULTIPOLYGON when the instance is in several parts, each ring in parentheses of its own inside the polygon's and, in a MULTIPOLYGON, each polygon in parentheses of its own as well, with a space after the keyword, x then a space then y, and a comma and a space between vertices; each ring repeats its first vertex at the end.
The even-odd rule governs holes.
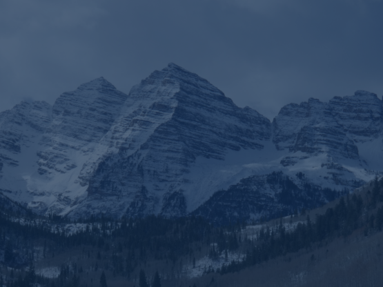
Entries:
POLYGON ((347 193, 316 186, 302 172, 294 177, 271 172, 246 177, 227 190, 215 192, 193 215, 224 225, 266 220, 316 208, 347 193))

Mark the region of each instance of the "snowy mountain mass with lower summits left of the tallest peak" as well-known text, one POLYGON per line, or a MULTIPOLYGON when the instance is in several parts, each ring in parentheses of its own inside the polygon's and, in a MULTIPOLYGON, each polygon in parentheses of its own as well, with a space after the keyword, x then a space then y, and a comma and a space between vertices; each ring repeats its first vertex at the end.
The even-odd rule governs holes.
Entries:
POLYGON ((68 212, 86 197, 79 172, 126 97, 100 78, 64 93, 53 107, 22 102, 3 112, 1 189, 36 212, 68 212))

